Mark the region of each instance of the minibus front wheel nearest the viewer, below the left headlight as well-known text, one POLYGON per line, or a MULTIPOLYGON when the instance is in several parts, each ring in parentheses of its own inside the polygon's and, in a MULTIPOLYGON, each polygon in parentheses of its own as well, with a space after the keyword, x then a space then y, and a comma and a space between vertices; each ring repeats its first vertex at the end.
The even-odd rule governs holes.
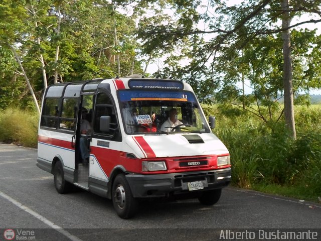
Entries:
POLYGON ((124 174, 118 174, 112 184, 112 203, 119 217, 127 219, 136 214, 138 201, 132 196, 124 174))

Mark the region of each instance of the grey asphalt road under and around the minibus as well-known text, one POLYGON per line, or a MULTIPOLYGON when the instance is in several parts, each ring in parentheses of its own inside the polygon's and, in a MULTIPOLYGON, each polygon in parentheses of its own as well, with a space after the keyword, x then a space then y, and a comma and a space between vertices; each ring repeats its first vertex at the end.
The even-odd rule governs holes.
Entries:
MULTIPOLYGON (((211 207, 196 199, 146 201, 135 217, 123 220, 108 199, 78 188, 58 194, 53 175, 36 159, 35 149, 0 144, 0 240, 8 239, 6 229, 16 236, 29 231, 33 240, 81 241, 216 240, 222 230, 235 228, 254 230, 257 238, 260 229, 321 228, 320 204, 232 187, 211 207)), ((314 230, 321 240, 321 229, 314 230)))

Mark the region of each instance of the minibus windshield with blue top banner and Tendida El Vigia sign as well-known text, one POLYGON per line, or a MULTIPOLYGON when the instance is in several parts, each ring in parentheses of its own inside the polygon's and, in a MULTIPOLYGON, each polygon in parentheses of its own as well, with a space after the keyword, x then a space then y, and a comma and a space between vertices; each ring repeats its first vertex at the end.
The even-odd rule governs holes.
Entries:
POLYGON ((118 97, 127 134, 210 133, 192 92, 129 89, 118 97))

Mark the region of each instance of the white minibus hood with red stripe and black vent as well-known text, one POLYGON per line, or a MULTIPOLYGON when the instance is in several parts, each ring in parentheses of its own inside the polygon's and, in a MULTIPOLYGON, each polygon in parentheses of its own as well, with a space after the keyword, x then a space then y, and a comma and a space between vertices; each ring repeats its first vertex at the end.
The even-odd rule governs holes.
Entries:
POLYGON ((228 154, 214 134, 170 134, 128 136, 128 146, 138 158, 228 154))

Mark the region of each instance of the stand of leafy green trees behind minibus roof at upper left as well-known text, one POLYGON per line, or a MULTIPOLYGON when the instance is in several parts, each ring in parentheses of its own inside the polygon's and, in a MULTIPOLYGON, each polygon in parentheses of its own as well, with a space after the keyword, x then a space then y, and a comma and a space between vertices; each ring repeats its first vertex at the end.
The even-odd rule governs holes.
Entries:
POLYGON ((0 96, 2 107, 26 107, 34 101, 37 108, 44 89, 57 81, 142 73, 135 23, 117 8, 117 3, 105 0, 2 1, 0 92, 6 92, 0 96))

